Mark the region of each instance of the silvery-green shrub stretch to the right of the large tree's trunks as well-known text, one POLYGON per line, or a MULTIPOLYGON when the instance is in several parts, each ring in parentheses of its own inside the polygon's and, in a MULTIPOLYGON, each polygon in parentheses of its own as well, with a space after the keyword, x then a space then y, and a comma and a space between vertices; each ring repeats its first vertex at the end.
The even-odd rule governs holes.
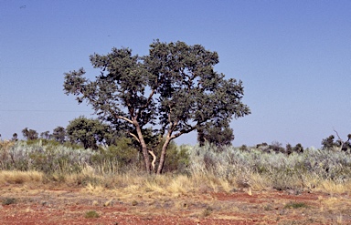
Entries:
POLYGON ((303 153, 268 153, 259 148, 241 150, 215 146, 189 148, 190 173, 211 172, 218 178, 249 178, 259 174, 271 180, 273 188, 303 188, 305 178, 329 179, 336 183, 351 179, 351 157, 344 151, 307 148, 303 153))

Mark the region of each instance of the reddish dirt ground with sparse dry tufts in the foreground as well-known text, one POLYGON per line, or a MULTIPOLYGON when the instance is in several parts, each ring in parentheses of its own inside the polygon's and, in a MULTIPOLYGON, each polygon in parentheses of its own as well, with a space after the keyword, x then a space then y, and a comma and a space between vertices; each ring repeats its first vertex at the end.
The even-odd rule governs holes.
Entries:
POLYGON ((166 194, 6 184, 0 224, 351 224, 348 194, 238 190, 166 194), (86 218, 94 210, 99 218, 86 218))

